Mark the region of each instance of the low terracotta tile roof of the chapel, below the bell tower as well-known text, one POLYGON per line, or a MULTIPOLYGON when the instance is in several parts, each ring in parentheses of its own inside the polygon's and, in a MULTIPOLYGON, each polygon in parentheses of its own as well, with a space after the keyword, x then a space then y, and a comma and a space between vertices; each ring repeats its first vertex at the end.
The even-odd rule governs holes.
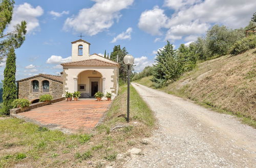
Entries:
POLYGON ((75 66, 119 66, 116 62, 106 62, 98 59, 90 59, 90 60, 82 60, 82 61, 75 61, 70 63, 63 63, 60 64, 62 66, 65 65, 75 65, 75 66))

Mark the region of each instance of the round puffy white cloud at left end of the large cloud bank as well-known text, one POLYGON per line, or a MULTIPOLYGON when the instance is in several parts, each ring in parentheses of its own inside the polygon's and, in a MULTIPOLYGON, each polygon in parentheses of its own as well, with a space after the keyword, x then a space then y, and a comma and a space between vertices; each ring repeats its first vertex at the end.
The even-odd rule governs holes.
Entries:
POLYGON ((161 29, 168 27, 168 17, 164 14, 164 10, 156 6, 153 10, 141 13, 138 26, 151 35, 161 35, 161 29))

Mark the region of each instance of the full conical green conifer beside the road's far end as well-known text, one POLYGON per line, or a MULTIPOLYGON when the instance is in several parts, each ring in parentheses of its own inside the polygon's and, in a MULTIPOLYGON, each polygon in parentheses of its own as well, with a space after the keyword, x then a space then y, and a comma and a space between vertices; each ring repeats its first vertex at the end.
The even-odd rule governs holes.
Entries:
POLYGON ((184 72, 184 63, 182 58, 176 54, 173 44, 167 41, 164 48, 157 53, 154 65, 153 78, 156 88, 161 88, 166 85, 167 81, 175 81, 184 72))

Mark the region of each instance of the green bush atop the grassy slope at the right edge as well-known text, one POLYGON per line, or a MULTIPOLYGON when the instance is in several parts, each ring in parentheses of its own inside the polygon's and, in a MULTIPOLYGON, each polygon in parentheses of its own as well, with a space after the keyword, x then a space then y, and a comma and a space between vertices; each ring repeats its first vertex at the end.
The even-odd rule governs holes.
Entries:
POLYGON ((230 54, 237 55, 256 47, 256 35, 245 37, 230 47, 230 54))

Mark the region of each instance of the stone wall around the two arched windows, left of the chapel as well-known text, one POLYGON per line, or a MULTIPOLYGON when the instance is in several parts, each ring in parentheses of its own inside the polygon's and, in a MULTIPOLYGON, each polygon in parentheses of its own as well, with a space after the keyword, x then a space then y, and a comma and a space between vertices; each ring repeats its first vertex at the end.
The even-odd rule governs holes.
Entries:
POLYGON ((19 81, 18 82, 18 98, 19 99, 28 99, 29 101, 39 99, 41 95, 50 94, 52 97, 60 98, 62 97, 62 89, 63 84, 59 81, 55 81, 49 78, 45 78, 42 76, 38 76, 35 78, 30 78, 27 80, 19 81), (39 90, 38 92, 32 92, 32 81, 38 80, 39 82, 39 90), (49 92, 42 92, 42 81, 48 80, 49 81, 49 92))

